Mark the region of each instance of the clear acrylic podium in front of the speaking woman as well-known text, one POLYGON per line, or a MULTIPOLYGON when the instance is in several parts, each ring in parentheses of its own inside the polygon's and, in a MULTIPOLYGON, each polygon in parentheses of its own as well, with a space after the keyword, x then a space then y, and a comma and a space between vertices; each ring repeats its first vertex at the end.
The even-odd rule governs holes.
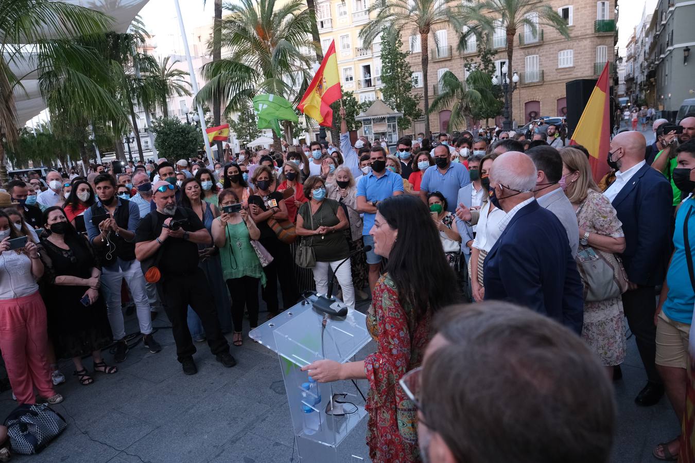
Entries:
MULTIPOLYGON (((249 336, 278 355, 300 461, 337 463, 338 447, 367 412, 357 405, 361 397, 357 396, 352 384, 312 383, 307 372, 300 368, 321 359, 347 362, 370 342, 371 337, 364 314, 353 310, 347 317, 325 317, 311 307, 314 298, 316 296, 311 296, 308 302, 298 303, 263 323, 249 336), (343 411, 352 413, 327 414, 333 394, 347 394, 340 400, 354 403, 344 405, 343 411)), ((360 452, 345 449, 340 452, 343 455, 340 461, 369 461, 368 455, 360 452)))

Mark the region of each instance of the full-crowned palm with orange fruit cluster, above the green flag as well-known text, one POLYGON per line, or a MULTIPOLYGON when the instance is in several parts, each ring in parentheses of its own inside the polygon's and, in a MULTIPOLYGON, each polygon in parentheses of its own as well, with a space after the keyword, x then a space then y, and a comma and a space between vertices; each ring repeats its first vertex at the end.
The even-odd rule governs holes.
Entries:
POLYGON ((295 89, 308 79, 314 60, 302 49, 318 47, 310 38, 313 12, 302 0, 281 6, 275 0, 240 0, 225 8, 231 12, 222 18, 220 33, 229 55, 202 67, 208 82, 194 104, 227 101, 224 115, 231 117, 256 94, 301 97, 295 89))

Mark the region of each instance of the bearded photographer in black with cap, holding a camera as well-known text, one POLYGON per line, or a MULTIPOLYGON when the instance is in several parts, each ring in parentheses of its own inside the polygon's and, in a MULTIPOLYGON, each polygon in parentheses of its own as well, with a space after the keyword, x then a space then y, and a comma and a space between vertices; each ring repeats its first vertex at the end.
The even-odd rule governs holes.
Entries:
MULTIPOLYGON (((177 207, 174 185, 160 180, 154 184, 156 210, 140 221, 136 232, 136 258, 143 265, 154 258, 149 270, 159 270, 157 290, 172 322, 177 357, 183 373, 197 373, 193 354, 196 349, 190 337, 188 305, 195 310, 215 359, 224 367, 234 367, 229 344, 220 330, 212 290, 205 273, 198 267, 198 244, 212 245, 212 237, 193 210, 177 207)), ((149 273, 148 270, 148 273, 149 273)))

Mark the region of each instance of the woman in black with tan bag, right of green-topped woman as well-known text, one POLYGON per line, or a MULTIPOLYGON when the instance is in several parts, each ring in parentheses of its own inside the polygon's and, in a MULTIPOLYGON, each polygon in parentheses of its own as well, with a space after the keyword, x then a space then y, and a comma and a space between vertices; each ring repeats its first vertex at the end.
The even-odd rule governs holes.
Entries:
POLYGON ((251 217, 258 226, 261 237, 259 242, 272 255, 272 262, 265 269, 265 277, 268 278, 268 283, 263 287, 263 301, 268 307, 268 319, 275 317, 278 314, 279 304, 277 300, 277 282, 280 282, 282 292, 282 303, 284 310, 291 308, 299 299, 297 292, 297 283, 293 275, 294 263, 290 246, 281 241, 280 237, 286 239, 286 235, 293 235, 293 229, 278 226, 282 221, 284 224, 290 224, 287 214, 287 206, 285 205, 282 194, 272 191, 272 185, 275 183, 275 174, 273 169, 268 166, 259 166, 254 170, 252 182, 258 188, 256 194, 249 196, 249 210, 251 217), (271 228, 275 226, 275 230, 271 228))

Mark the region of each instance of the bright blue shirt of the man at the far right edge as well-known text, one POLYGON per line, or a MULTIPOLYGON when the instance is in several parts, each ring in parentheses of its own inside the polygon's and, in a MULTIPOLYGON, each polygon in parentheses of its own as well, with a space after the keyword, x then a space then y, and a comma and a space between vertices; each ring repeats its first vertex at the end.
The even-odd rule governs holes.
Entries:
POLYGON ((673 321, 690 324, 693 319, 695 293, 690 283, 688 264, 685 253, 690 253, 695 260, 695 199, 692 197, 683 201, 676 214, 676 230, 673 231, 673 258, 669 265, 666 281, 669 294, 662 306, 664 314, 673 321), (688 211, 692 209, 688 219, 688 241, 690 249, 685 249, 683 239, 683 224, 688 211))

